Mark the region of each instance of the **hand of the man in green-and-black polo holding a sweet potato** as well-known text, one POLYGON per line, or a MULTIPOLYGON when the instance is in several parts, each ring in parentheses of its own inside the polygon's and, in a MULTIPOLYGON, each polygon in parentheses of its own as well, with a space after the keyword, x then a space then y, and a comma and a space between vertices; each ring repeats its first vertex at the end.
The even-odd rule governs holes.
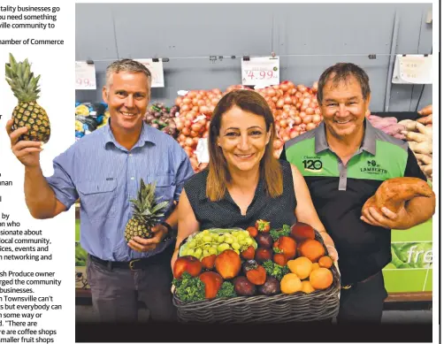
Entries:
POLYGON ((388 229, 407 229, 410 228, 410 215, 404 207, 397 213, 388 210, 386 207, 381 209, 382 213, 373 207, 363 211, 361 219, 371 226, 379 226, 388 229))

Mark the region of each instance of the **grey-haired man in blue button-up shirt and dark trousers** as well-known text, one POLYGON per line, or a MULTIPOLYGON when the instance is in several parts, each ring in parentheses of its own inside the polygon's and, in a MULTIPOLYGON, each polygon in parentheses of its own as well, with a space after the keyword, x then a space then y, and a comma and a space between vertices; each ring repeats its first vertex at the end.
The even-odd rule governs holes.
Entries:
POLYGON ((110 111, 103 126, 54 159, 54 174, 43 177, 41 142, 19 141, 27 128, 11 132, 11 149, 25 165, 25 196, 34 218, 54 218, 80 198, 80 244, 88 252, 87 275, 93 304, 102 321, 137 321, 138 300, 154 320, 173 321, 171 234, 177 226, 174 201, 193 175, 188 156, 171 136, 146 125, 151 75, 142 64, 120 60, 108 66, 103 100, 110 111), (140 180, 156 182, 156 195, 168 201, 154 237, 124 231, 132 216, 130 199, 140 180))

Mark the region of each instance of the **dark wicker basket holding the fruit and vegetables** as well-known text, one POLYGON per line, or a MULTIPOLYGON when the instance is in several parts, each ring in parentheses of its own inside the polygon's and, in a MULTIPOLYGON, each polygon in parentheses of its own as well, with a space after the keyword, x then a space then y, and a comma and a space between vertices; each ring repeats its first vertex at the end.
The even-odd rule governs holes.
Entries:
MULTIPOLYGON (((316 239, 323 243, 318 232, 316 239)), ((326 251, 326 248, 325 248, 326 251)), ((340 274, 332 266, 333 284, 310 294, 237 296, 199 302, 180 302, 174 293, 178 319, 184 323, 293 323, 336 317, 339 311, 340 274)))

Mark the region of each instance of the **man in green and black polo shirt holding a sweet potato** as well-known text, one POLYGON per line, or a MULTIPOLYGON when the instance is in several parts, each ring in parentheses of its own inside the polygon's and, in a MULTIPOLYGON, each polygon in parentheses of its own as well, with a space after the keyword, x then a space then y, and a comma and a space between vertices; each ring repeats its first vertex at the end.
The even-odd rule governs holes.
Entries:
POLYGON ((407 229, 434 212, 434 197, 417 197, 397 214, 361 213, 379 185, 395 177, 426 180, 405 141, 371 126, 367 74, 357 65, 337 64, 318 81, 324 121, 287 141, 280 158, 302 172, 319 218, 333 238, 341 268, 338 322, 380 322, 387 291, 382 269, 391 261, 390 229, 407 229))

